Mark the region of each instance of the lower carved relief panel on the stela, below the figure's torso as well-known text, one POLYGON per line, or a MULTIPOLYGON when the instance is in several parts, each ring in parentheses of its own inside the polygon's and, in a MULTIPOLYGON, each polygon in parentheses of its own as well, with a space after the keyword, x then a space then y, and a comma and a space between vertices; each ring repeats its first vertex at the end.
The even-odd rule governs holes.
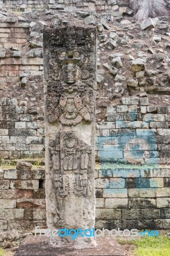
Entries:
POLYGON ((75 132, 61 132, 56 140, 50 140, 49 145, 50 168, 51 173, 54 173, 54 187, 58 189, 59 195, 75 193, 89 196, 91 147, 80 140, 75 132))

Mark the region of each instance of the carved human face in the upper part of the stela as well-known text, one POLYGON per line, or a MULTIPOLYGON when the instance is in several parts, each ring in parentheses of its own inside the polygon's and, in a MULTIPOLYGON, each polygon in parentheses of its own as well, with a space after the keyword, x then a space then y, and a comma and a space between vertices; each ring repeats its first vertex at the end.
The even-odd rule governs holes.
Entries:
POLYGON ((63 71, 63 80, 67 84, 74 84, 79 79, 79 68, 73 64, 65 65, 62 69, 63 71))

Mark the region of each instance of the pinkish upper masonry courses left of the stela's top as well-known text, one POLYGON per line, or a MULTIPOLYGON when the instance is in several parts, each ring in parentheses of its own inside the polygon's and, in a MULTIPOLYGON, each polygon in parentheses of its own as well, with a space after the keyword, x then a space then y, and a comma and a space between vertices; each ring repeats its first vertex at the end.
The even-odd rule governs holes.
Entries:
POLYGON ((0 58, 2 72, 0 90, 5 89, 6 86, 13 86, 13 84, 26 86, 22 79, 28 76, 39 76, 39 79, 42 79, 42 44, 35 45, 33 35, 29 38, 31 32, 29 30, 32 31, 33 29, 27 22, 20 21, 15 17, 1 19, 0 58), (33 42, 31 40, 29 42, 29 39, 33 42), (27 46, 30 51, 25 50, 27 46), (32 48, 39 49, 34 50, 32 48))

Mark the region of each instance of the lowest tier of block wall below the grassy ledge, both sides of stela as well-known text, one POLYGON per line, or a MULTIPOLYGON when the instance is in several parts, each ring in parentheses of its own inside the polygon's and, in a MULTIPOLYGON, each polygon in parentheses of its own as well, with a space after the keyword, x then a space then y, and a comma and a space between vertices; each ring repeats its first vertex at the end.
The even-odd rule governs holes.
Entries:
MULTIPOLYGON (((170 228, 169 168, 96 168, 96 228, 170 228)), ((0 172, 0 230, 46 227, 45 169, 18 162, 0 172)))

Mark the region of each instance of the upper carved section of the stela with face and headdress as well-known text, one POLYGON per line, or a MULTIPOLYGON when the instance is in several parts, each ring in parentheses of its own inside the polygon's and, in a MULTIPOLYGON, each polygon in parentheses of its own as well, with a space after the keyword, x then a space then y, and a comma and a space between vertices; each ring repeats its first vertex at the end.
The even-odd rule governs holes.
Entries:
POLYGON ((68 27, 46 40, 49 55, 47 115, 49 122, 91 122, 94 111, 95 31, 68 27))

